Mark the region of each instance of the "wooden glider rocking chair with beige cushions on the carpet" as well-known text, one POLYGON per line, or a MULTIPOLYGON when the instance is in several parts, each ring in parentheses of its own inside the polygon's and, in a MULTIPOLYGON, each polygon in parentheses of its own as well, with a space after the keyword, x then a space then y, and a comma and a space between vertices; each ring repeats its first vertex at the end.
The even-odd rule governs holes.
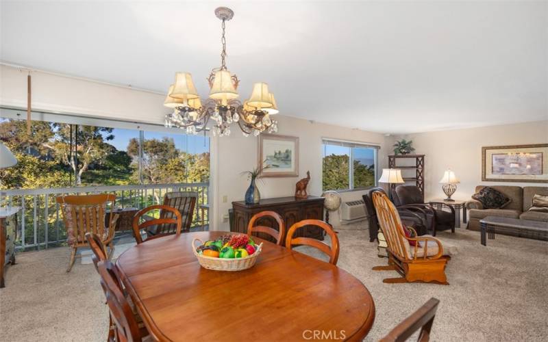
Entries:
POLYGON ((375 192, 373 203, 388 244, 388 266, 377 266, 373 269, 395 270, 402 276, 386 278, 383 282, 438 282, 449 285, 445 266, 450 258, 443 256, 440 240, 429 235, 406 237, 397 209, 388 197, 381 192, 375 192), (411 246, 410 241, 415 241, 415 246, 411 246))

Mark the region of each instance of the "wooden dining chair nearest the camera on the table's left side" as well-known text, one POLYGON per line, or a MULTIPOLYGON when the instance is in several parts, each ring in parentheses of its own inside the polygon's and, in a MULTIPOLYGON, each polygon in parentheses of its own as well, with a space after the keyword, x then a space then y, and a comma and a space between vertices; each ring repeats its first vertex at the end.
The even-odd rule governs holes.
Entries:
POLYGON ((101 276, 101 287, 105 291, 110 317, 115 326, 115 341, 147 341, 148 339, 145 338, 149 338, 150 335, 147 328, 144 326, 142 328, 139 327, 132 307, 129 305, 121 289, 116 285, 120 281, 116 265, 108 260, 99 261, 97 263, 97 270, 101 276))

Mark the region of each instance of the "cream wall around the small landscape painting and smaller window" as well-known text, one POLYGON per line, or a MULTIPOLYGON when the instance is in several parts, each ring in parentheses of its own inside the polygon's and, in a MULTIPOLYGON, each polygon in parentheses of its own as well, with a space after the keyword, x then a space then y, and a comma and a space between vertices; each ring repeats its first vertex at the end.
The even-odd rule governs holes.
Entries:
MULTIPOLYGON (((370 142, 380 144, 379 150, 380 168, 386 167, 388 159, 386 155, 390 149, 386 147, 385 137, 379 133, 360 131, 337 127, 330 124, 321 124, 301 120, 289 116, 277 116, 279 120, 280 135, 292 135, 299 137, 299 177, 289 178, 265 178, 258 181, 258 187, 262 198, 279 196, 293 196, 295 194, 295 183, 306 176, 310 170, 310 183, 308 183, 308 194, 319 196, 322 193, 322 137, 331 137, 341 140, 356 142, 370 142)), ((216 222, 219 222, 218 230, 227 230, 228 222, 223 216, 232 207, 232 201, 243 200, 245 191, 249 186, 246 176, 241 172, 251 170, 258 163, 258 137, 244 137, 238 130, 234 130, 229 137, 215 138, 217 155, 216 162, 219 166, 216 172, 216 184, 214 185, 214 215, 216 222), (223 197, 227 202, 223 202, 223 197)), ((364 192, 342 193, 343 200, 361 199, 364 192)), ((329 222, 337 226, 339 222, 338 213, 330 213, 329 222)))

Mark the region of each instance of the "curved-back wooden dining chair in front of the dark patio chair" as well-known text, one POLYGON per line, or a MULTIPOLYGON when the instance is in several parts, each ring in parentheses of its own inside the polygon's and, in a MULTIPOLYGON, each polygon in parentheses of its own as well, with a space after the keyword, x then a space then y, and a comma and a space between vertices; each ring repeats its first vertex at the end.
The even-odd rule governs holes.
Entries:
POLYGON ((143 239, 141 236, 141 229, 146 229, 149 226, 168 226, 169 224, 175 225, 175 230, 172 231, 171 229, 169 231, 163 231, 163 230, 157 230, 157 233, 155 235, 149 236, 147 235, 147 239, 145 241, 148 241, 150 239, 155 239, 157 237, 162 237, 165 235, 180 235, 181 234, 181 227, 182 227, 182 215, 181 213, 173 208, 169 207, 167 205, 151 205, 150 207, 146 207, 145 209, 142 209, 138 213, 135 214, 133 218, 133 233, 135 235, 135 240, 137 241, 137 244, 142 244, 143 239), (139 221, 142 219, 142 216, 148 213, 149 211, 153 210, 160 210, 161 212, 169 212, 171 213, 175 218, 153 218, 149 220, 144 220, 142 223, 139 224, 139 221))

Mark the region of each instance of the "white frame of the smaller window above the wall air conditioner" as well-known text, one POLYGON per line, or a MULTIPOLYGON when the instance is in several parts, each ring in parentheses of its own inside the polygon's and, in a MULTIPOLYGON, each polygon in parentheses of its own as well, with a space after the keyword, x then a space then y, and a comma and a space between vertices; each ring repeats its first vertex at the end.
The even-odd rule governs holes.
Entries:
MULTIPOLYGON (((322 191, 325 192, 327 190, 333 190, 336 192, 354 192, 354 191, 362 191, 366 189, 371 189, 372 187, 376 187, 379 184, 378 181, 378 173, 379 173, 379 149, 380 146, 378 144, 371 144, 367 142, 352 142, 348 140, 338 140, 338 139, 332 139, 332 138, 326 138, 323 137, 321 140, 321 144, 323 147, 323 158, 325 158, 325 146, 326 145, 332 145, 332 146, 343 146, 348 147, 350 150, 349 153, 349 163, 348 163, 348 177, 349 177, 349 187, 348 189, 323 189, 323 182, 322 182, 322 191), (371 187, 354 187, 354 148, 369 148, 373 150, 373 163, 374 168, 374 185, 371 187)), ((323 173, 324 173, 324 163, 322 162, 322 180, 323 180, 323 173)))

